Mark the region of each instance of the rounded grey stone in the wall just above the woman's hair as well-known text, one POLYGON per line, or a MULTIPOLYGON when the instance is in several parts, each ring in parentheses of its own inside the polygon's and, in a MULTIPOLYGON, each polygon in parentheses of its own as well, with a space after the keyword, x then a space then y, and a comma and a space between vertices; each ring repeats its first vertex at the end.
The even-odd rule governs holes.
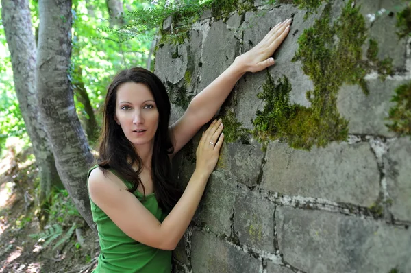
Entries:
POLYGON ((155 53, 155 75, 158 75, 164 84, 177 84, 187 69, 187 45, 166 44, 155 53), (176 57, 177 58, 173 58, 176 57), (173 67, 173 69, 170 69, 173 67))

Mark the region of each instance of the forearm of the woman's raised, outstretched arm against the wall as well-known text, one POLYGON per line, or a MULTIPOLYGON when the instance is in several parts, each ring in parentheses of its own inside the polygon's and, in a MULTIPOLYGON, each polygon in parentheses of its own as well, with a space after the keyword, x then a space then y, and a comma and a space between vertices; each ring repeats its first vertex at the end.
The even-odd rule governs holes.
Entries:
POLYGON ((218 78, 192 99, 188 111, 203 123, 210 121, 244 74, 245 67, 234 60, 218 78))

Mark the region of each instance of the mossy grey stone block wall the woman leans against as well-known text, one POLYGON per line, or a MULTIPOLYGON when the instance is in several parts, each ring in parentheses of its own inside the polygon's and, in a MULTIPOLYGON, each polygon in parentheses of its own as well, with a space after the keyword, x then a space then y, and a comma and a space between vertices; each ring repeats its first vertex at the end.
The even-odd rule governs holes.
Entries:
MULTIPOLYGON (((264 1, 225 19, 206 11, 190 26, 184 43, 159 43, 155 73, 169 88, 175 121, 236 56, 277 22, 293 18, 269 75, 247 73, 219 112, 234 137, 226 139, 199 209, 173 254, 175 272, 411 272, 411 140, 386 126, 395 89, 411 81, 410 40, 396 34, 404 1, 330 3, 324 1, 312 14, 264 1), (349 25, 352 21, 344 27, 344 10, 363 24, 360 45, 354 42, 361 27, 349 25), (320 31, 315 22, 326 12, 327 25, 340 27, 324 48, 336 47, 331 56, 340 63, 310 60, 314 49, 310 58, 304 55, 310 49, 302 45, 301 36, 308 35, 304 30, 320 31), (341 29, 347 33, 340 35, 341 29), (344 44, 350 35, 353 40, 344 44), (370 40, 378 51, 371 51, 370 40), (346 56, 353 53, 345 52, 351 46, 360 49, 360 58, 346 56), (299 49, 304 49, 302 57, 295 58, 299 49), (309 70, 313 65, 319 74, 309 70), (289 105, 297 116, 309 113, 308 128, 301 125, 305 117, 295 123, 289 116, 286 123, 294 128, 256 129, 253 121, 267 104, 256 95, 269 90, 270 75, 277 86, 278 79, 289 80, 289 105), (328 101, 319 107, 323 97, 328 101)), ((165 21, 163 32, 173 32, 175 25, 165 21)), ((194 171, 199 138, 173 163, 183 185, 194 171)))

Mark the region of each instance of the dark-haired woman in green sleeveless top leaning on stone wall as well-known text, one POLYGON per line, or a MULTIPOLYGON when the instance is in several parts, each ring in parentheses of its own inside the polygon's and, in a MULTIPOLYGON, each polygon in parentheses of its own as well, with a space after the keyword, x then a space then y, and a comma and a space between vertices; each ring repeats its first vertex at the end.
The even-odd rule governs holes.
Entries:
POLYGON ((171 158, 212 119, 245 72, 274 64, 271 56, 290 23, 279 23, 238 56, 170 128, 169 97, 153 73, 133 68, 116 75, 105 99, 98 165, 88 174, 101 246, 95 272, 171 272, 171 250, 190 224, 219 158, 221 119, 203 132, 196 169, 181 196, 169 179, 171 158))

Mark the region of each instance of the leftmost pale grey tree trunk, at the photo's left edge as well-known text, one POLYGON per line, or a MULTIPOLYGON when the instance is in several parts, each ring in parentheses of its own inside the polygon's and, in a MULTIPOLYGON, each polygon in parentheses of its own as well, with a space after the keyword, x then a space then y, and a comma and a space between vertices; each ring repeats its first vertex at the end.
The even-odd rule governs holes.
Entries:
POLYGON ((51 145, 38 116, 36 97, 36 42, 27 0, 2 0, 1 16, 12 57, 14 87, 27 133, 32 141, 36 165, 40 169, 40 204, 51 190, 64 189, 58 176, 51 145))

